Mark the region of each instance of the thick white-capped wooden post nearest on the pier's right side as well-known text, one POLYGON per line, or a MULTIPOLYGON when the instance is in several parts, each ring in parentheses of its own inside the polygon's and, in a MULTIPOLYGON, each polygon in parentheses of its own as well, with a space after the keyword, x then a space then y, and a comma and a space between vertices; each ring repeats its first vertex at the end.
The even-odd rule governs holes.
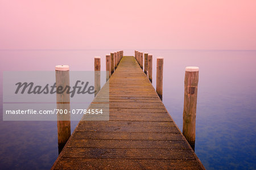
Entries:
POLYGON ((196 103, 199 67, 186 67, 184 80, 183 135, 195 150, 196 103))

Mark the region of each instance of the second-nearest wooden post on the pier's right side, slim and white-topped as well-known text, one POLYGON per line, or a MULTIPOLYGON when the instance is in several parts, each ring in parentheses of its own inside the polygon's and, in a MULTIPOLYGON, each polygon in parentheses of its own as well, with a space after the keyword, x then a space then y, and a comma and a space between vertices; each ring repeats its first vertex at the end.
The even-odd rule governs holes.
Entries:
POLYGON ((156 58, 156 92, 163 100, 163 57, 156 58))

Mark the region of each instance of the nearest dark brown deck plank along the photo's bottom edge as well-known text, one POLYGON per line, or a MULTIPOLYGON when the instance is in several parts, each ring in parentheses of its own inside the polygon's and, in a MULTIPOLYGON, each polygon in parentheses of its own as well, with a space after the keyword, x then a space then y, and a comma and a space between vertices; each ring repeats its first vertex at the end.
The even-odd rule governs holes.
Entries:
POLYGON ((61 158, 60 162, 55 169, 204 169, 197 160, 184 159, 61 158))

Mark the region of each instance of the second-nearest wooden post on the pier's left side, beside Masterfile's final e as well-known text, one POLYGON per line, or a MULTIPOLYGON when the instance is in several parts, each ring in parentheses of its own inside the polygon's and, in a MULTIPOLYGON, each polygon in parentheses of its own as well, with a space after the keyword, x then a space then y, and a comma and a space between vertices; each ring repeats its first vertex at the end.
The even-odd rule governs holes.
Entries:
POLYGON ((101 90, 101 57, 94 57, 94 96, 101 90))

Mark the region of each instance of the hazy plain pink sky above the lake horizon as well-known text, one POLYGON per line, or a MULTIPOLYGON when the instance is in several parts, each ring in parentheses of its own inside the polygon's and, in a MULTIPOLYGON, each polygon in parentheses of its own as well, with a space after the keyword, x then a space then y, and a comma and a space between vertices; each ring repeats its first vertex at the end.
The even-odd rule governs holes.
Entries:
POLYGON ((256 50, 255 0, 0 0, 0 49, 256 50))

